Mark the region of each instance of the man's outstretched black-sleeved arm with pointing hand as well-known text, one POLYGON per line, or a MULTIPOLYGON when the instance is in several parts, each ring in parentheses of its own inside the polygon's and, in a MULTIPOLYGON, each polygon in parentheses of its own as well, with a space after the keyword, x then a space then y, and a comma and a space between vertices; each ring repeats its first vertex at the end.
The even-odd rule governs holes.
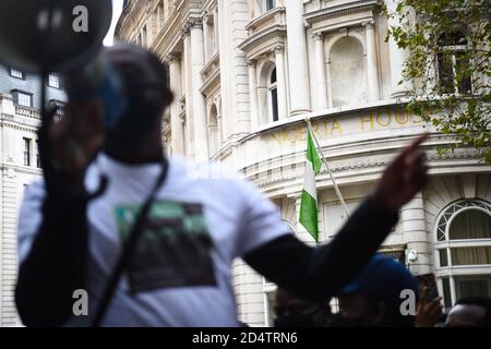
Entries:
POLYGON ((247 253, 246 262, 299 297, 330 299, 361 272, 397 222, 398 209, 426 185, 426 155, 418 148, 426 137, 412 142, 386 168, 375 192, 331 243, 311 248, 283 236, 247 253))

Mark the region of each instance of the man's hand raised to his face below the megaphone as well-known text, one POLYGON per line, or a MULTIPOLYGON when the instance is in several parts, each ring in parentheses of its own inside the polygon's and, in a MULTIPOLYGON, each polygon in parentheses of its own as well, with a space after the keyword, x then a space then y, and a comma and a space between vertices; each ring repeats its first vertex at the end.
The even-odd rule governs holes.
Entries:
POLYGON ((103 110, 98 100, 69 101, 64 116, 51 127, 51 160, 69 176, 70 185, 82 185, 87 166, 103 147, 103 110))

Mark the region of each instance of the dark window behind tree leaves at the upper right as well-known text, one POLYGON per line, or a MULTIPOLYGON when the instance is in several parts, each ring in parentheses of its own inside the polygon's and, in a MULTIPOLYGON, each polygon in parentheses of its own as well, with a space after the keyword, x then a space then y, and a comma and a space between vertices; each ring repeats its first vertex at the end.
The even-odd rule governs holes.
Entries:
POLYGON ((443 34, 439 39, 440 52, 436 56, 438 77, 443 94, 470 94, 470 75, 457 76, 469 65, 466 55, 467 39, 462 32, 443 34))

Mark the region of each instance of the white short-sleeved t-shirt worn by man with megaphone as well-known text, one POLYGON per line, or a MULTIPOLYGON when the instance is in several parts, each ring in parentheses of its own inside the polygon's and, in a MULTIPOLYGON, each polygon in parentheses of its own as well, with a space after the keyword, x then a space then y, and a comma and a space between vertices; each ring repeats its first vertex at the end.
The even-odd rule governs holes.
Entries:
MULTIPOLYGON (((237 326, 232 261, 289 230, 270 200, 251 183, 224 174, 219 165, 168 160, 168 176, 103 325, 237 326)), ((101 154, 87 170, 91 192, 100 174, 109 179, 105 193, 87 208, 89 316, 160 169, 158 164, 123 165, 101 154)), ((35 239, 44 196, 41 181, 26 190, 19 222, 20 261, 35 239)), ((88 320, 74 316, 69 325, 88 320)))

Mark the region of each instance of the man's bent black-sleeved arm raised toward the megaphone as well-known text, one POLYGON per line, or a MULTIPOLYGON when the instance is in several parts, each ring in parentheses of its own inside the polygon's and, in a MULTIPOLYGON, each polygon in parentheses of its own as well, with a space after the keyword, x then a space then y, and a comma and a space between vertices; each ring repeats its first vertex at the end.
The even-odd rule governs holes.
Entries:
POLYGON ((48 140, 41 133, 39 139, 44 185, 27 189, 19 218, 15 302, 26 326, 63 325, 72 315, 73 292, 84 288, 88 197, 83 181, 103 142, 100 106, 69 103, 50 130, 48 140), (47 147, 55 153, 49 158, 47 147))

